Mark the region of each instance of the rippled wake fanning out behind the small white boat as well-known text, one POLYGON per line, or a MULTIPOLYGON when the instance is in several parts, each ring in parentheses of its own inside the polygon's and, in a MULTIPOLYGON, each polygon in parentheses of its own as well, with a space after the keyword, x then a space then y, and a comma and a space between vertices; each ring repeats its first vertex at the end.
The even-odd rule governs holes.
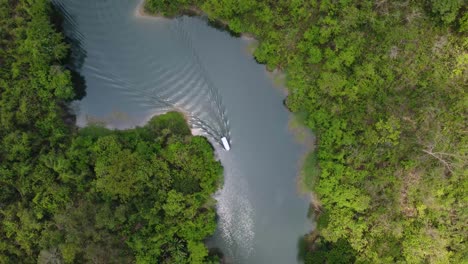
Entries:
MULTIPOLYGON (((226 109, 185 29, 188 23, 186 18, 169 21, 168 36, 171 39, 165 41, 179 45, 179 50, 183 52, 167 59, 155 46, 132 43, 133 38, 141 39, 142 33, 138 35, 138 31, 126 29, 126 21, 116 19, 114 5, 110 2, 92 1, 89 5, 94 5, 94 8, 89 8, 88 17, 77 23, 73 10, 83 8, 80 5, 86 3, 54 0, 55 6, 64 15, 67 37, 79 43, 75 48, 72 45, 72 55, 76 57, 75 54, 82 53, 82 50, 88 53, 87 63, 81 62, 74 68, 86 71, 155 113, 171 110, 183 112, 193 129, 229 150, 231 135, 226 109), (120 28, 122 33, 111 34, 106 31, 107 28, 120 28), (105 42, 109 45, 102 44, 105 42), (136 72, 135 69, 141 70, 136 72)), ((124 17, 124 14, 121 15, 124 17)), ((161 24, 159 21, 152 22, 161 24)))

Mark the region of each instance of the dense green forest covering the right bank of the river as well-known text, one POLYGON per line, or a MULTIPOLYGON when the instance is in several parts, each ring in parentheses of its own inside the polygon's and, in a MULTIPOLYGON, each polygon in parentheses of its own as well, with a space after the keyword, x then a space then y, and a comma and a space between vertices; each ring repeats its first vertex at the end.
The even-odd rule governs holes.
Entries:
POLYGON ((148 0, 257 37, 317 135, 306 263, 464 263, 468 10, 463 0, 148 0), (317 202, 317 201, 316 201, 317 202))

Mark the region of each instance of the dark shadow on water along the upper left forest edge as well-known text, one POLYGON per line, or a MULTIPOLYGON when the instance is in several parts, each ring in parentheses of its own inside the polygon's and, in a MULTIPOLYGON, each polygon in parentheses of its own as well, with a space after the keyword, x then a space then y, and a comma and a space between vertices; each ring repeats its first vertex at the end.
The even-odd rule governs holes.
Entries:
POLYGON ((75 90, 75 97, 72 100, 81 100, 86 96, 86 79, 80 74, 80 70, 86 59, 86 50, 79 39, 79 34, 67 34, 67 32, 77 32, 75 19, 67 13, 65 8, 58 1, 52 4, 51 23, 58 32, 64 32, 65 43, 70 46, 67 56, 63 59, 62 65, 70 71, 71 81, 75 90))

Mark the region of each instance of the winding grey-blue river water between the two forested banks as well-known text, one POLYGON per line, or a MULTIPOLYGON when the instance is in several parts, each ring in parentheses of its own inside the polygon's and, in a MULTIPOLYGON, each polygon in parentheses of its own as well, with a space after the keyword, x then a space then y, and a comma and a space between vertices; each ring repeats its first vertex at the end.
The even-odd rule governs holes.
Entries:
POLYGON ((218 229, 207 241, 230 263, 296 263, 310 230, 297 193, 306 148, 288 128, 284 94, 248 52, 249 40, 202 18, 143 17, 140 1, 54 1, 85 80, 77 123, 124 129, 169 109, 190 117, 224 166, 218 229), (229 152, 218 144, 228 137, 229 152))

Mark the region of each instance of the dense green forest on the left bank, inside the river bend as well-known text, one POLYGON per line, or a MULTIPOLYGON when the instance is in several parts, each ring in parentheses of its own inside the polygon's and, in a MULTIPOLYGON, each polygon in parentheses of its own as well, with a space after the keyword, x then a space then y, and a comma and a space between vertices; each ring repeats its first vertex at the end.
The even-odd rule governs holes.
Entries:
POLYGON ((0 0, 0 263, 210 263, 222 168, 184 117, 77 129, 47 0, 0 0))

